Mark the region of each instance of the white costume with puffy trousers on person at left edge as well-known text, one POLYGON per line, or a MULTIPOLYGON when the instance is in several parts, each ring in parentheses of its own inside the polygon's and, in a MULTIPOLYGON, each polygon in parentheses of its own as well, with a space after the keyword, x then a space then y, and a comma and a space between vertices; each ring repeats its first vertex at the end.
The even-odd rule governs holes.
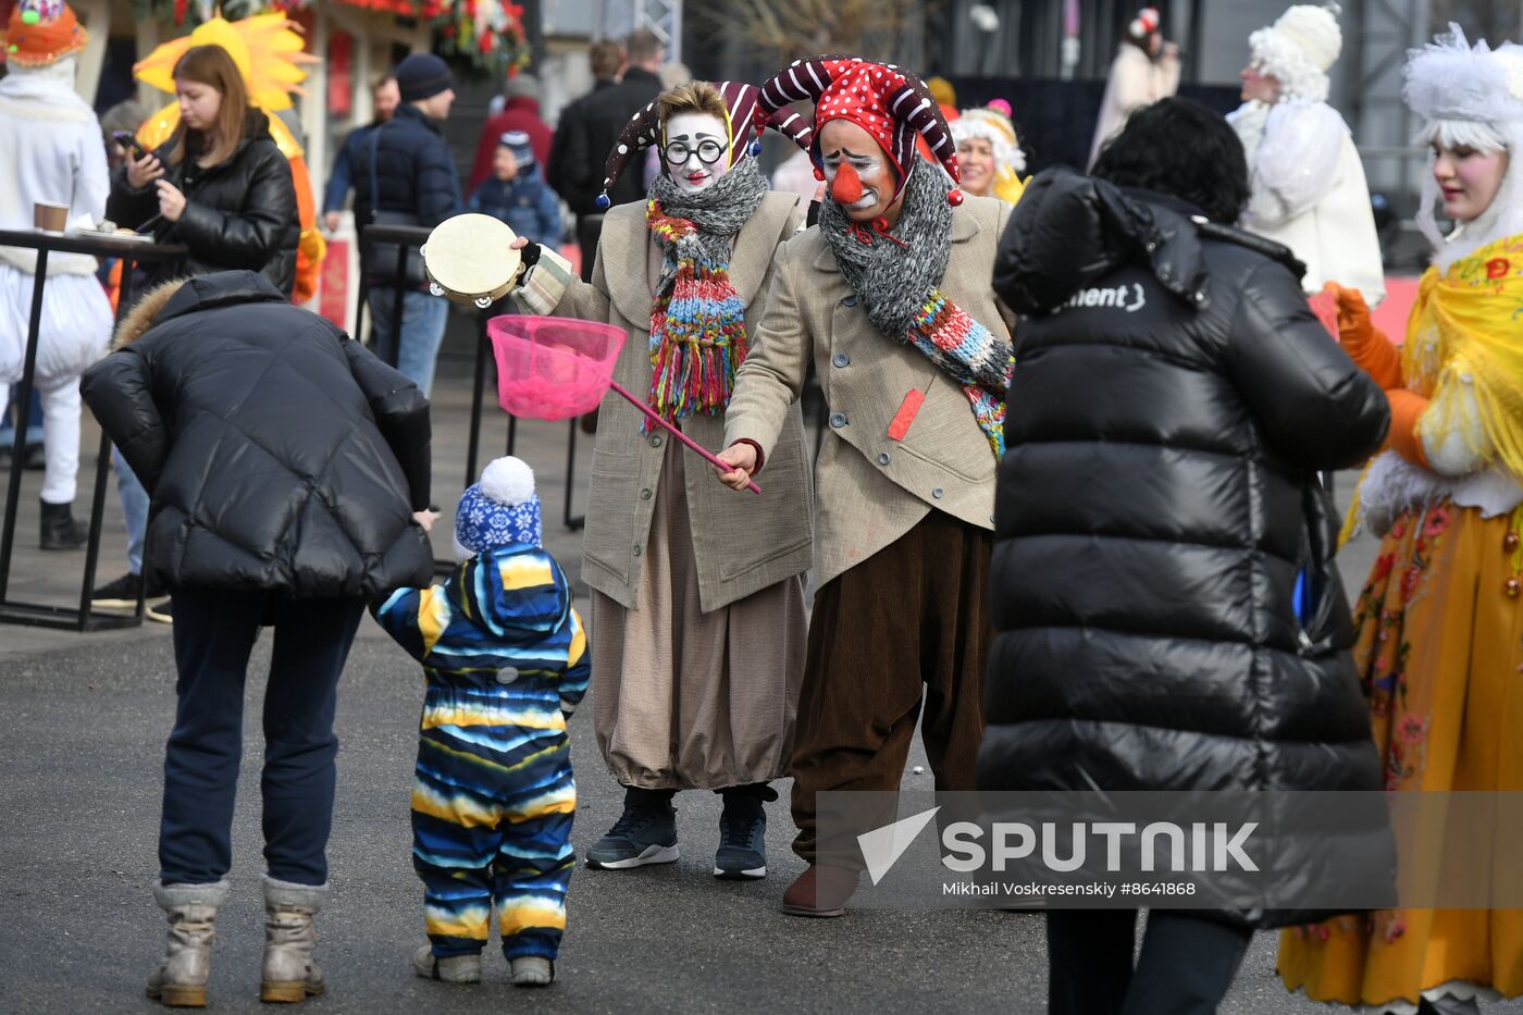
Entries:
MULTIPOLYGON (((32 229, 32 204, 69 206, 70 226, 105 215, 110 178, 94 111, 75 93, 75 58, 46 67, 15 62, 0 79, 0 229, 32 229)), ((0 407, 21 379, 37 251, 0 247, 0 407)), ((111 302, 85 255, 52 253, 43 290, 37 390, 47 472, 43 500, 75 498, 79 469, 79 375, 111 338, 111 302)), ((23 407, 24 410, 24 407, 23 407)))

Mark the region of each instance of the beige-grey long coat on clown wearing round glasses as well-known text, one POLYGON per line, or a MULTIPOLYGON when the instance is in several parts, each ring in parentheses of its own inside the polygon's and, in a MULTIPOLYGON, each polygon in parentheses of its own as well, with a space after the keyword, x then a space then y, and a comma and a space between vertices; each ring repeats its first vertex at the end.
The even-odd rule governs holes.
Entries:
MULTIPOLYGON (((768 194, 742 227, 730 261, 730 279, 746 303, 749 355, 760 351, 763 293, 772 282, 772 256, 790 239, 803 209, 792 194, 768 194)), ((637 396, 650 390, 650 305, 661 273, 661 250, 646 226, 644 203, 621 204, 603 219, 591 283, 573 279, 556 306, 557 317, 617 325, 629 340, 614 379, 637 396)), ((641 433, 640 410, 609 392, 597 411, 592 488, 582 538, 586 584, 626 610, 635 610, 650 514, 661 480, 666 431, 641 433)), ((716 451, 723 447, 723 419, 691 416, 682 431, 716 451)), ((768 457, 762 495, 736 495, 690 451, 685 463, 687 506, 698 559, 699 604, 719 610, 784 578, 809 570, 812 485, 804 456, 798 405, 778 413, 777 450, 768 457)))

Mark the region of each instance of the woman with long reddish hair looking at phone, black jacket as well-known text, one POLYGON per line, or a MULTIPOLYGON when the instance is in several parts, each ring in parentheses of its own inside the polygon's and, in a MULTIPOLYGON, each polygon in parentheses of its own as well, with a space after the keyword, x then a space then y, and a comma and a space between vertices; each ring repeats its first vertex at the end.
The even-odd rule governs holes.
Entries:
POLYGON ((180 264, 140 267, 134 288, 247 268, 289 297, 302 226, 291 165, 270 137, 268 117, 248 105, 244 78, 221 46, 184 52, 175 94, 174 136, 116 169, 105 210, 116 224, 146 226, 155 241, 184 244, 189 253, 180 264))

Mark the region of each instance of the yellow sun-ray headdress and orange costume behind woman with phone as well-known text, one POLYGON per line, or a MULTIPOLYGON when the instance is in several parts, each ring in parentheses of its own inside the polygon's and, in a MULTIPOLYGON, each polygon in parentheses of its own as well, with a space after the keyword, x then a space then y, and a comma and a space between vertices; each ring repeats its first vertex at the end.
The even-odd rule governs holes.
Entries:
MULTIPOLYGON (((218 15, 196 26, 190 35, 164 43, 145 59, 133 66, 139 81, 161 91, 174 93, 175 62, 192 46, 221 46, 238 64, 248 101, 257 110, 270 114, 270 136, 280 154, 291 163, 291 183, 295 186, 297 218, 302 223, 302 238, 297 247, 295 291, 292 303, 305 303, 317 293, 317 279, 327 256, 327 241, 317 227, 317 204, 312 197, 312 177, 306 168, 306 152, 276 113, 291 108, 291 93, 300 93, 306 81, 303 66, 320 62, 317 56, 303 52, 300 26, 285 14, 256 14, 241 21, 228 21, 218 15)), ((180 105, 171 102, 149 116, 137 131, 137 140, 152 151, 169 140, 180 123, 180 105)))

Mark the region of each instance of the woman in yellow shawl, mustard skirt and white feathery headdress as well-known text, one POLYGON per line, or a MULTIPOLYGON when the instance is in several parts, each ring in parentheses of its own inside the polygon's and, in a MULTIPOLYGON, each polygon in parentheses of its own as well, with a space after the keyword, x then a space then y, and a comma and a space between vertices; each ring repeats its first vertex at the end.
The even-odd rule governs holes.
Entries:
MULTIPOLYGON (((1389 789, 1520 791, 1523 47, 1471 47, 1451 24, 1413 52, 1406 78, 1433 146, 1418 223, 1435 264, 1401 351, 1357 293, 1337 290, 1343 346, 1392 410, 1387 450, 1351 512, 1381 535, 1355 611, 1355 663, 1389 789), (1439 201, 1458 224, 1448 236, 1439 201)), ((1287 931, 1279 972, 1314 1000, 1477 1012, 1479 998, 1523 994, 1523 911, 1340 917, 1287 931)))

